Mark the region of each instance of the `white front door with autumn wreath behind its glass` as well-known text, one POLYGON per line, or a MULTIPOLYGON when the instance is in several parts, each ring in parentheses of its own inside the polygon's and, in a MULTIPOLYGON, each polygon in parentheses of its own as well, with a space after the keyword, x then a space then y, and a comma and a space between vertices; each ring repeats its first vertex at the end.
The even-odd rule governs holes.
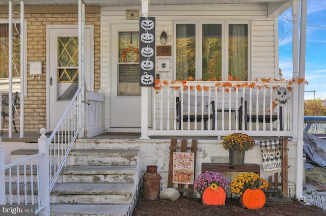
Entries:
POLYGON ((139 24, 111 25, 111 127, 141 127, 139 24))

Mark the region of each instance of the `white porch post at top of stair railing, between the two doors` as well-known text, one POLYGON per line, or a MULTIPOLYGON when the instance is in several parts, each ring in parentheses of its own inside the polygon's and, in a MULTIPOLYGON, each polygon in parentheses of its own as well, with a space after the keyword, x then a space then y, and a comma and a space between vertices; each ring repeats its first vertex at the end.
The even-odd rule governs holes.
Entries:
POLYGON ((85 4, 83 0, 78 1, 78 82, 80 88, 80 94, 78 97, 78 113, 80 118, 78 119, 78 125, 82 126, 78 134, 78 138, 84 138, 85 132, 85 4))

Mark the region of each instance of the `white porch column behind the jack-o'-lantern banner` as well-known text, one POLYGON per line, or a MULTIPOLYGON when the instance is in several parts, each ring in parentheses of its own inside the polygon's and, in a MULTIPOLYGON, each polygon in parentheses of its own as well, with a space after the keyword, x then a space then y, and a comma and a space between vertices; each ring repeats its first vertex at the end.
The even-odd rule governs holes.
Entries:
MULTIPOLYGON (((141 0, 142 2, 142 16, 148 16, 148 4, 149 0, 141 0)), ((142 86, 142 98, 141 98, 141 138, 140 139, 149 139, 148 137, 148 92, 149 87, 142 86)))

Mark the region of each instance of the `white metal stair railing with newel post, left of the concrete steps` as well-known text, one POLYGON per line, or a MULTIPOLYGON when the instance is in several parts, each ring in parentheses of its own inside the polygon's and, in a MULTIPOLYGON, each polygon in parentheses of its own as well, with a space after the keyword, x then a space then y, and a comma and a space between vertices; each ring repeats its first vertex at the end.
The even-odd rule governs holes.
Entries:
POLYGON ((0 204, 35 204, 36 214, 50 214, 50 192, 60 183, 58 177, 83 125, 78 123, 79 95, 80 88, 49 138, 45 135, 46 129, 40 130, 38 154, 5 165, 4 149, 0 149, 0 204), (5 179, 6 173, 8 179, 5 179))

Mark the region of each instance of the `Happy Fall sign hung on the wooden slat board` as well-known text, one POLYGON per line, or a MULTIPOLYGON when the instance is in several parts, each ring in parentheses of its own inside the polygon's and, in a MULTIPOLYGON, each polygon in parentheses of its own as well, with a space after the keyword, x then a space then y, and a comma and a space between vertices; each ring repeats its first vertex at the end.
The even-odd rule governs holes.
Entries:
POLYGON ((194 152, 173 152, 173 183, 194 184, 194 152))

